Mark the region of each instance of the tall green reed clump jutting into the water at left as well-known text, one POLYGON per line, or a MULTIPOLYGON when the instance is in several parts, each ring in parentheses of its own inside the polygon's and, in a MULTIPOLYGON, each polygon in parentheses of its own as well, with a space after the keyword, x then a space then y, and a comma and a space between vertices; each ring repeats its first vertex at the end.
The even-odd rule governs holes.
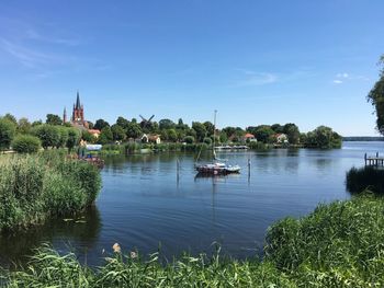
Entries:
POLYGON ((100 186, 97 168, 64 152, 8 155, 0 161, 0 230, 79 211, 94 201, 100 186))

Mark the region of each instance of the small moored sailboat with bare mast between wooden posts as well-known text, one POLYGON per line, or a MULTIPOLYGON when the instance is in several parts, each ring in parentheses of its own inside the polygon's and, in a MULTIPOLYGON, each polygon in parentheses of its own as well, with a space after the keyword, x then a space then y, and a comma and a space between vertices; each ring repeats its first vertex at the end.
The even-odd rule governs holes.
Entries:
POLYGON ((215 110, 215 117, 214 117, 214 127, 213 127, 213 161, 212 163, 205 163, 205 164, 195 164, 195 170, 199 172, 199 174, 205 174, 205 175, 226 175, 230 173, 239 173, 240 166, 239 165, 229 165, 224 160, 221 160, 216 157, 215 152, 215 141, 216 141, 216 114, 217 111, 215 110))

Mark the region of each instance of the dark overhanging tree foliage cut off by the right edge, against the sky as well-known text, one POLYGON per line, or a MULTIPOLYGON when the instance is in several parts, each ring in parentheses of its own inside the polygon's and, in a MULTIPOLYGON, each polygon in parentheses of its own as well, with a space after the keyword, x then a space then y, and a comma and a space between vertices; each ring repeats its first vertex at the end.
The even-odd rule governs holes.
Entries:
POLYGON ((380 65, 383 66, 380 72, 380 79, 366 96, 366 100, 375 107, 376 128, 384 135, 384 55, 381 57, 380 65))

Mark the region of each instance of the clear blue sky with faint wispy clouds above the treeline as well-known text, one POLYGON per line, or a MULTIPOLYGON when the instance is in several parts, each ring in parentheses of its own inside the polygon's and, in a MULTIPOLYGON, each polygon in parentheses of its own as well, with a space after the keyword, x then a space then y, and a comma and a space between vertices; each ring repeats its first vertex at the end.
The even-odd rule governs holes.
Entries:
POLYGON ((0 2, 0 115, 295 123, 377 136, 383 0, 0 2))

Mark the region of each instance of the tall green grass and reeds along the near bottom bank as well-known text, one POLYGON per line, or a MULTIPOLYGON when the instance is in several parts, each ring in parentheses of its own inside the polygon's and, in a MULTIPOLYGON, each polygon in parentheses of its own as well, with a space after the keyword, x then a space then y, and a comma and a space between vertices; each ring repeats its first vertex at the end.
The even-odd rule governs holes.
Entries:
POLYGON ((364 195, 286 218, 267 235, 263 261, 184 256, 161 265, 114 247, 97 269, 43 247, 7 287, 383 287, 384 200, 364 195))

